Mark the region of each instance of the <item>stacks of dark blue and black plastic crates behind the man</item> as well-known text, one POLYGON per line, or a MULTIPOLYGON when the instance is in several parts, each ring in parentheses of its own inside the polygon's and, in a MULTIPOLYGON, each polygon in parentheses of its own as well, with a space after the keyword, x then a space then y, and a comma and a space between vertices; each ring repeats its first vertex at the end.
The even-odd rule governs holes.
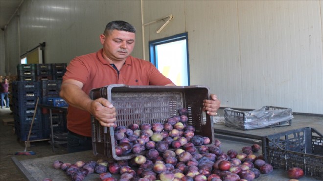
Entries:
MULTIPOLYGON (((59 97, 66 64, 19 64, 17 72, 18 81, 13 82, 12 92, 15 105, 13 111, 15 131, 19 138, 25 141, 29 133, 37 97, 39 97, 39 104, 47 104, 48 98, 59 97), (26 125, 28 123, 23 124, 26 121, 29 121, 29 125, 26 125), (25 132, 25 129, 28 131, 25 132)), ((67 131, 65 113, 55 112, 52 114, 52 118, 54 131, 67 131)), ((49 130, 48 110, 37 108, 30 140, 50 138, 49 130)))

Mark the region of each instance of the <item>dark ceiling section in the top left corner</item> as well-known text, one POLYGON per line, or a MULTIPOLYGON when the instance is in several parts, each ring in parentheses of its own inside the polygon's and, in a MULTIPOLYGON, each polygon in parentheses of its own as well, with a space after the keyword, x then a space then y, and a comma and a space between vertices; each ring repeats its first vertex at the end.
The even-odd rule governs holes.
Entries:
POLYGON ((0 0, 0 28, 2 30, 9 23, 21 2, 23 0, 0 0))

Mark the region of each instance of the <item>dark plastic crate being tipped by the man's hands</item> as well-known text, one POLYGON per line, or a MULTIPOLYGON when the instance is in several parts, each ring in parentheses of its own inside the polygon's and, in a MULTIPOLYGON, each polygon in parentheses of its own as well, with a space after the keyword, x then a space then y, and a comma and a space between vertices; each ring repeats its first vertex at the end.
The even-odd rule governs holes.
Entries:
MULTIPOLYGON (((164 123, 167 118, 178 115, 179 108, 188 109, 188 125, 195 127, 195 135, 210 138, 214 144, 213 122, 211 117, 203 112, 203 100, 208 99, 208 88, 202 86, 125 86, 110 85, 90 91, 94 100, 99 97, 108 99, 117 112, 116 125, 128 126, 132 123, 164 123)), ((118 157, 115 153, 114 129, 100 125, 92 117, 93 154, 105 156, 108 159, 130 159, 138 155, 128 154, 118 157)))

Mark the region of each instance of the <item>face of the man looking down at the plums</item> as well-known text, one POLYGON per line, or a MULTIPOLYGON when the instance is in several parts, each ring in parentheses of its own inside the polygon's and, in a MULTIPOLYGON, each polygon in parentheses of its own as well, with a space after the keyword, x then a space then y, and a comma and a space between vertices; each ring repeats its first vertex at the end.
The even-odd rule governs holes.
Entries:
POLYGON ((111 34, 100 35, 103 54, 112 61, 125 60, 135 46, 136 34, 113 30, 111 34))

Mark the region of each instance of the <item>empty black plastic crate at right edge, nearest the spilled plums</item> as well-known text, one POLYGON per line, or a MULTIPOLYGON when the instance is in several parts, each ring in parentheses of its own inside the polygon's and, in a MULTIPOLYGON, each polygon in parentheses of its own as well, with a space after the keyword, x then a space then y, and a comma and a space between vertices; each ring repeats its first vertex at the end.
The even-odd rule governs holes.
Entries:
POLYGON ((323 179, 323 135, 314 128, 263 137, 262 153, 274 168, 299 167, 306 176, 323 179))

